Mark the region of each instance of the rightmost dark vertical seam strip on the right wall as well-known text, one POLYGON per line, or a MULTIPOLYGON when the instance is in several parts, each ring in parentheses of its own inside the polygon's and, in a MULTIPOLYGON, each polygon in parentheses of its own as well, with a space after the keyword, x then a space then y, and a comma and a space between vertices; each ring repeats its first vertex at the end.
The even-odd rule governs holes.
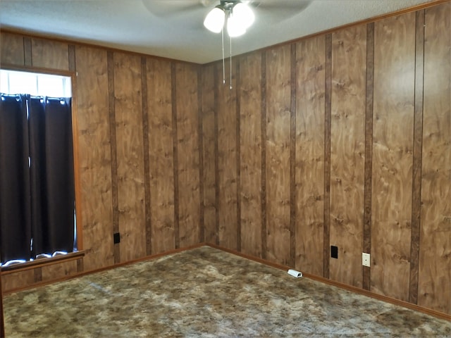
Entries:
POLYGON ((415 103, 412 166, 412 230, 410 241, 409 302, 418 303, 419 246, 421 226, 421 165, 423 146, 425 11, 416 12, 415 25, 415 103))

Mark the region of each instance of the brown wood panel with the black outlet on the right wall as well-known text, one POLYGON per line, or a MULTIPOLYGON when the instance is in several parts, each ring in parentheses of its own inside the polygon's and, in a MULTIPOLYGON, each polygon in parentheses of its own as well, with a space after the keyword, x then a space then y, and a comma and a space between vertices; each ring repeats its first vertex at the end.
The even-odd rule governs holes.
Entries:
POLYGON ((362 287, 366 27, 332 35, 330 279, 362 287))

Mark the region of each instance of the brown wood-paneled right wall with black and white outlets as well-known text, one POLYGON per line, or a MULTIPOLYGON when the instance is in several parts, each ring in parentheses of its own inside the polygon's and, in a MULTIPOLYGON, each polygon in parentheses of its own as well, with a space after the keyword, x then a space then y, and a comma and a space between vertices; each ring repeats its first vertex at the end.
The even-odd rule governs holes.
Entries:
POLYGON ((450 314, 450 15, 447 2, 237 57, 233 89, 206 66, 211 241, 450 314))

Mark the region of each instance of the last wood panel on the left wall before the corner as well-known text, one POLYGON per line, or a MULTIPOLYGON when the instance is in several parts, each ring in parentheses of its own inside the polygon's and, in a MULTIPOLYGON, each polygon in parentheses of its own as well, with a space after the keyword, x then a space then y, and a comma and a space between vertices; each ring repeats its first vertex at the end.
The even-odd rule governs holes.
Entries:
POLYGON ((180 247, 199 242, 199 137, 197 67, 175 65, 180 247))

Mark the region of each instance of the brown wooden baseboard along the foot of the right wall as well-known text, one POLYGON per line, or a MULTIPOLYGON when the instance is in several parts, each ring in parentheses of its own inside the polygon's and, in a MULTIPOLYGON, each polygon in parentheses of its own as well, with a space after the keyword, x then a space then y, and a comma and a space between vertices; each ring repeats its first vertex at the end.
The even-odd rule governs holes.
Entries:
MULTIPOLYGON (((233 253, 236 256, 240 256, 242 258, 247 258, 247 259, 249 259, 251 261, 255 261, 255 262, 262 263, 262 264, 265 264, 265 265, 268 265, 268 266, 272 266, 273 268, 277 268, 277 269, 280 269, 280 270, 288 270, 288 269, 291 268, 291 267, 289 267, 287 265, 282 265, 282 264, 278 264, 278 263, 272 263, 272 262, 266 261, 266 260, 264 260, 262 258, 259 258, 259 257, 250 256, 250 255, 247 255, 246 253, 241 253, 241 252, 236 251, 236 250, 227 249, 227 248, 224 248, 224 247, 219 246, 217 244, 206 243, 206 245, 207 246, 211 246, 212 248, 215 248, 215 249, 226 251, 228 253, 233 253)), ((433 310, 431 308, 425 308, 424 306, 419 306, 419 305, 416 305, 416 304, 412 304, 412 303, 409 303, 407 301, 400 301, 399 299, 395 299, 395 298, 392 298, 392 297, 383 296, 381 294, 375 294, 374 292, 370 292, 370 291, 365 290, 365 289, 360 289, 358 287, 353 287, 351 285, 343 284, 343 283, 340 283, 340 282, 335 282, 334 280, 329 280, 327 278, 316 276, 316 275, 312 275, 310 273, 302 273, 302 275, 304 277, 307 277, 307 278, 311 279, 311 280, 316 280, 318 282, 329 284, 329 285, 332 285, 334 287, 339 287, 340 289, 345 289, 345 290, 350 291, 350 292, 355 292, 356 294, 362 294, 364 296, 369 296, 369 297, 371 297, 373 299, 377 299, 378 301, 385 301, 386 303, 391 303, 391 304, 394 304, 394 305, 402 306, 404 308, 409 308, 409 309, 414 310, 414 311, 418 311, 418 312, 421 312, 421 313, 426 313, 427 315, 433 315, 436 318, 440 318, 440 319, 445 319, 445 320, 451 321, 451 315, 448 315, 447 313, 443 313, 443 312, 440 312, 440 311, 435 311, 435 310, 433 310)))

